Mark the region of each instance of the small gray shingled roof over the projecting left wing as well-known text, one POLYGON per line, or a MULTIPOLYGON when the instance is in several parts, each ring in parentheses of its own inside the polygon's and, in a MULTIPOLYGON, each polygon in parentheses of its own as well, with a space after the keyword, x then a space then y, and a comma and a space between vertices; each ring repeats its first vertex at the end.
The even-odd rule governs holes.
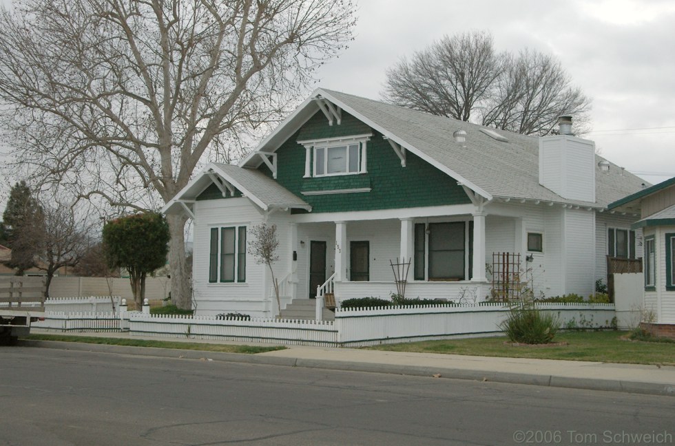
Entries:
POLYGON ((243 193, 253 195, 268 208, 311 209, 302 198, 260 171, 238 167, 236 164, 214 162, 211 165, 216 168, 216 172, 219 169, 233 182, 238 183, 243 193))

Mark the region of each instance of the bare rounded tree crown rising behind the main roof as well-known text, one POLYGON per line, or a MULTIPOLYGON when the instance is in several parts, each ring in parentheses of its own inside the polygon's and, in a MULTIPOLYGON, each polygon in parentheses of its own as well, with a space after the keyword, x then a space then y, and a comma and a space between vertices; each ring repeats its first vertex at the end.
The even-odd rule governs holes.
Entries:
MULTIPOLYGON (((384 100, 526 135, 548 134, 561 115, 588 125, 590 99, 554 56, 497 53, 492 36, 444 37, 387 71, 384 100)), ((577 126, 577 131, 583 129, 577 126)), ((581 131, 583 133, 583 131, 581 131)))

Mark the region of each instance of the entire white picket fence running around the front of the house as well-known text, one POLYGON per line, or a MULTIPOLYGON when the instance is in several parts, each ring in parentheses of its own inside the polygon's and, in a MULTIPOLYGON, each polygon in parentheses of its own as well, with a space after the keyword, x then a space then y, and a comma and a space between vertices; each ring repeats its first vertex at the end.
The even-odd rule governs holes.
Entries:
MULTIPOLYGON (((610 328, 614 304, 538 304, 562 328, 610 328)), ((147 312, 45 312, 36 327, 65 332, 119 331, 132 336, 273 342, 309 346, 371 346, 380 343, 487 337, 501 334, 510 311, 504 304, 348 308, 335 321, 216 319, 213 316, 149 315, 147 312)), ((613 321, 614 319, 614 321, 613 321)))

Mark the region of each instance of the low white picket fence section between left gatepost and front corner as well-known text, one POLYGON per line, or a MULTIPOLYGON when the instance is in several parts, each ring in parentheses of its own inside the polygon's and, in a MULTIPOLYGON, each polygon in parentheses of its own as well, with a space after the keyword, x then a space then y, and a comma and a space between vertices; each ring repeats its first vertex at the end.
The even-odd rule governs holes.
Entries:
POLYGON ((134 314, 129 317, 129 334, 305 346, 335 346, 337 343, 337 331, 333 321, 263 318, 222 320, 207 316, 134 314))

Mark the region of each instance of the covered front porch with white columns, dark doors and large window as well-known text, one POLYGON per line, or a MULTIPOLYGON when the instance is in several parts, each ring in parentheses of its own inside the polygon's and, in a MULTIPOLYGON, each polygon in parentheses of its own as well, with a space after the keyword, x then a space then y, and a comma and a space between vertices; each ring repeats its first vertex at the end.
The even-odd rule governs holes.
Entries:
POLYGON ((322 319, 326 293, 335 296, 338 307, 351 298, 386 299, 399 293, 397 280, 405 281, 408 298, 484 301, 490 295, 486 253, 516 251, 522 225, 514 217, 486 219, 485 213, 471 213, 472 206, 456 207, 461 209, 451 215, 371 220, 303 221, 309 216, 300 216, 289 225, 293 260, 280 281, 282 308, 316 298, 315 314, 322 319), (505 237, 505 227, 510 236, 505 237), (491 231, 499 235, 491 237, 491 231), (397 263, 405 265, 393 268, 397 263))

